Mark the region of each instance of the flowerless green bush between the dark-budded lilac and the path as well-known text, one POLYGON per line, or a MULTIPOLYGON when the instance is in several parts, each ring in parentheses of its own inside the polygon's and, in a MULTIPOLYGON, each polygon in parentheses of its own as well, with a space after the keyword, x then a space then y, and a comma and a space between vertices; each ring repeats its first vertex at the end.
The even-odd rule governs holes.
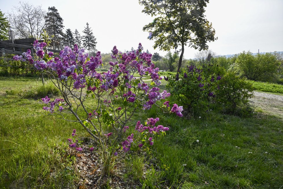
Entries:
POLYGON ((253 86, 234 72, 227 72, 219 82, 216 95, 217 102, 224 105, 223 110, 234 113, 237 108, 248 107, 249 98, 253 96, 253 86))

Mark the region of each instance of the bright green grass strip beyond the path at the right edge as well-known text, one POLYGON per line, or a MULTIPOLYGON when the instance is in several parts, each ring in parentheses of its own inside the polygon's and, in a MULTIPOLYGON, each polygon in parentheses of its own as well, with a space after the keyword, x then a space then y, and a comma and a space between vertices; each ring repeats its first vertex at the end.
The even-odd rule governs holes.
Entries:
POLYGON ((249 81, 249 82, 253 84, 254 90, 283 94, 283 85, 260 82, 260 81, 249 81))

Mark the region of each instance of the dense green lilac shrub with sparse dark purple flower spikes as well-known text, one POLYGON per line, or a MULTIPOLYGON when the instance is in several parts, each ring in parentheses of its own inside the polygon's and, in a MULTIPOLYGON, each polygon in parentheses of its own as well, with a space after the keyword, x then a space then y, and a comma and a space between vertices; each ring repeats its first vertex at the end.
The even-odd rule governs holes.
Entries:
POLYGON ((193 116, 196 111, 208 110, 209 103, 216 98, 215 92, 219 89, 220 79, 219 75, 207 75, 201 67, 193 65, 182 69, 177 77, 171 75, 165 78, 168 81, 166 88, 170 89, 171 95, 183 105, 178 107, 174 104, 171 112, 180 116, 184 107, 188 114, 193 116))

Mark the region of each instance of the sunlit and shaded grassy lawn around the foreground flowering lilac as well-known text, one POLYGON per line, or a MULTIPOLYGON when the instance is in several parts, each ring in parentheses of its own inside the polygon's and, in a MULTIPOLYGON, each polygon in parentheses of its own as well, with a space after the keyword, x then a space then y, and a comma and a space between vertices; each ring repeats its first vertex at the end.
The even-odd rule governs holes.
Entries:
MULTIPOLYGON (((80 174, 65 142, 73 128, 80 137, 87 133, 76 123, 47 116, 41 100, 19 97, 19 91, 41 84, 36 79, 0 78, 0 188, 77 188, 80 174)), ((144 188, 282 187, 282 118, 212 111, 186 120, 152 108, 135 113, 126 134, 148 117, 159 117, 170 130, 152 149, 125 158, 126 181, 144 188)))

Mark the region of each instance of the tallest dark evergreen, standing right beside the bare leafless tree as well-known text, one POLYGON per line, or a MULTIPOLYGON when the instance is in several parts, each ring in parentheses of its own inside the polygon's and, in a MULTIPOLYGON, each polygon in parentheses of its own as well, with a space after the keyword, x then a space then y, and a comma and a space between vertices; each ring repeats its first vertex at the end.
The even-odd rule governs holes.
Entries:
POLYGON ((63 19, 60 17, 60 14, 55 7, 48 7, 45 21, 46 31, 49 36, 54 35, 53 39, 57 41, 61 41, 65 38, 65 34, 63 33, 63 19))

